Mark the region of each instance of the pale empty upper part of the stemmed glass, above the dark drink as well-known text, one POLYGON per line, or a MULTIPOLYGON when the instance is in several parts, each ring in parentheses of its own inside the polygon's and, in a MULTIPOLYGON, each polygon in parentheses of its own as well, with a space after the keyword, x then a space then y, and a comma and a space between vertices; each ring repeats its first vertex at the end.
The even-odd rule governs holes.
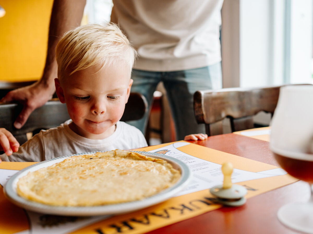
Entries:
POLYGON ((281 87, 270 125, 272 151, 313 154, 313 85, 281 87))

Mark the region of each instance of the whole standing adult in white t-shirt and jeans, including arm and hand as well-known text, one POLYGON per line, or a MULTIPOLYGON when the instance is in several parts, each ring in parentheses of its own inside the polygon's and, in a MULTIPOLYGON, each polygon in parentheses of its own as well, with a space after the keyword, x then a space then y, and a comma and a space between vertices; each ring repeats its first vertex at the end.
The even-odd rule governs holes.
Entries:
MULTIPOLYGON (((174 117, 177 139, 204 133, 193 113, 196 90, 221 88, 220 25, 223 0, 113 0, 111 21, 118 23, 138 52, 131 91, 143 93, 151 105, 163 81, 174 117)), ((15 122, 20 128, 30 113, 55 91, 55 46, 64 32, 80 24, 85 0, 54 0, 46 65, 32 86, 13 90, 2 101, 20 101, 15 122)), ((147 119, 130 122, 144 132, 147 119)))

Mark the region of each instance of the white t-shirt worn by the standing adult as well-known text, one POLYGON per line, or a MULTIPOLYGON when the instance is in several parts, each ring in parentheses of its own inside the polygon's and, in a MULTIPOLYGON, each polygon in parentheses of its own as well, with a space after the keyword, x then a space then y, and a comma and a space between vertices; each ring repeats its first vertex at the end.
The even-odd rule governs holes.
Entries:
POLYGON ((223 0, 113 0, 111 21, 137 50, 135 69, 180 71, 221 61, 223 0))

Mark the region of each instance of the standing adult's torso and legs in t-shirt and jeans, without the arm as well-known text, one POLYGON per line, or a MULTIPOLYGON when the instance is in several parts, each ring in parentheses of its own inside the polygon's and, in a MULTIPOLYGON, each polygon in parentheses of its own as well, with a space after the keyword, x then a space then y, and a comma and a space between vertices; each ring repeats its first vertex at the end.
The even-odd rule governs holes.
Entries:
MULTIPOLYGON (((163 82, 176 126, 177 140, 205 133, 193 112, 197 90, 222 88, 220 26, 223 0, 113 0, 117 23, 138 52, 131 91, 151 105, 163 82)), ((144 132, 144 119, 130 121, 144 132)))

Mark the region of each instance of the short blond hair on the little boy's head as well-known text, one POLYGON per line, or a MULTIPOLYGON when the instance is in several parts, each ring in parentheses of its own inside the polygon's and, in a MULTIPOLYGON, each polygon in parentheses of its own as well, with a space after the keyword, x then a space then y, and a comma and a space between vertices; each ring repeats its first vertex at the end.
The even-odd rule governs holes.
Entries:
POLYGON ((55 51, 61 80, 94 65, 102 69, 126 64, 131 71, 137 55, 127 37, 113 23, 106 27, 87 24, 66 32, 55 51))

